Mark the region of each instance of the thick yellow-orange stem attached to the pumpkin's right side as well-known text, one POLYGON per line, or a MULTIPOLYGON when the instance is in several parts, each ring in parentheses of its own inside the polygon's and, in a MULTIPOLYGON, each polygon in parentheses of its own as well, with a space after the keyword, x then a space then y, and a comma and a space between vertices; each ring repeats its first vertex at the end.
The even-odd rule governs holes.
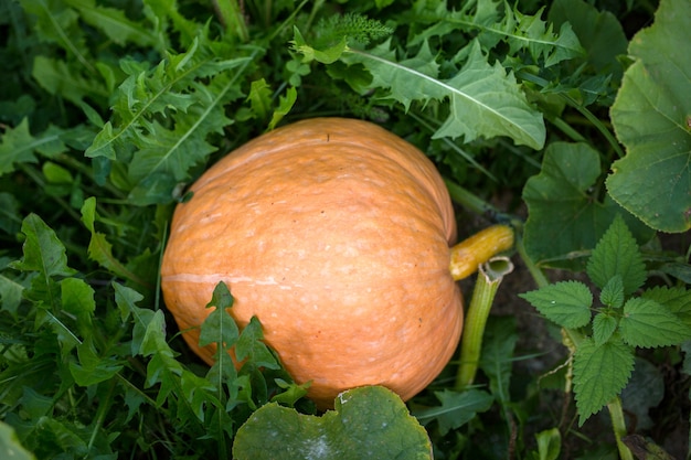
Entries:
POLYGON ((513 228, 492 225, 451 247, 449 270, 456 281, 469 277, 481 264, 513 247, 513 228))

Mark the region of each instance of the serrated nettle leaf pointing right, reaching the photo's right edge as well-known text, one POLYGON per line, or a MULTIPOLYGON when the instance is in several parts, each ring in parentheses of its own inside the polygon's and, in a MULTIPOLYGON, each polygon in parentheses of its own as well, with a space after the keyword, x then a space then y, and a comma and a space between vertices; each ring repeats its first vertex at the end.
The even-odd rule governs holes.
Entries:
POLYGON ((619 321, 621 338, 631 346, 678 345, 691 339, 691 327, 651 299, 629 299, 619 321))

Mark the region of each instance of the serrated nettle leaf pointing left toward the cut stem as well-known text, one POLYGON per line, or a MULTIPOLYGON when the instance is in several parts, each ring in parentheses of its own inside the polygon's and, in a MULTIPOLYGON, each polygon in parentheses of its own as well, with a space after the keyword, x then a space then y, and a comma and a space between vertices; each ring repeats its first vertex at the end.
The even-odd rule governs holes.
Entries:
POLYGON ((560 281, 519 297, 563 328, 576 329, 591 322, 593 293, 583 282, 560 281))

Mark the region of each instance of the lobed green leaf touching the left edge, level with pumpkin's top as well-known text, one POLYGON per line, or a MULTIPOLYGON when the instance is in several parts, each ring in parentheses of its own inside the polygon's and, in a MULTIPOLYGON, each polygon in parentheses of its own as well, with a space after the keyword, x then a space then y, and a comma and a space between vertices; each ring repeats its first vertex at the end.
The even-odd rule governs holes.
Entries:
POLYGON ((15 164, 38 162, 35 153, 52 158, 67 147, 61 139, 62 130, 49 127, 32 136, 26 118, 14 128, 8 128, 0 138, 0 176, 15 170, 15 164))

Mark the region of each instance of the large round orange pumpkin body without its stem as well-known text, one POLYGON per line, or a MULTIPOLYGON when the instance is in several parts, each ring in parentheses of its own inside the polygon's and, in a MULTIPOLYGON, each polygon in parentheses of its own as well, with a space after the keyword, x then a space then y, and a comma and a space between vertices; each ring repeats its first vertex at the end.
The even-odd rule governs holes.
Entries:
POLYGON ((253 315, 308 396, 384 385, 404 400, 454 354, 463 327, 449 272, 454 211, 434 164, 376 125, 315 118, 224 157, 173 214, 161 289, 189 346, 214 287, 253 315))

